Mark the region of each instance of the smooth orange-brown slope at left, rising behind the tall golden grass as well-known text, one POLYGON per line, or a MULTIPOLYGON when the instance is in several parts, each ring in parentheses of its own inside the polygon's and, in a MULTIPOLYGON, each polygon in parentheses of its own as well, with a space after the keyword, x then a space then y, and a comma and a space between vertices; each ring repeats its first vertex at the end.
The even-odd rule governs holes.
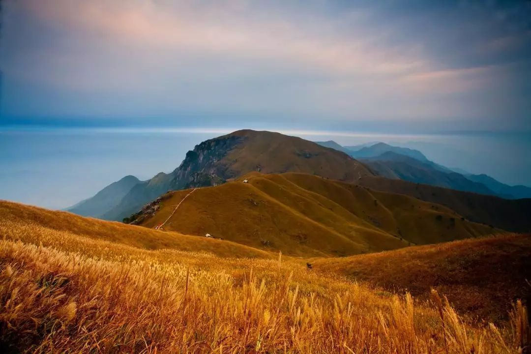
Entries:
POLYGON ((0 237, 14 240, 31 238, 35 239, 37 244, 39 241, 44 243, 44 240, 48 240, 53 243, 52 246, 63 242, 65 238, 82 237, 148 250, 178 249, 211 252, 224 257, 273 257, 259 249, 230 241, 182 235, 177 232, 161 232, 1 200, 0 237))

